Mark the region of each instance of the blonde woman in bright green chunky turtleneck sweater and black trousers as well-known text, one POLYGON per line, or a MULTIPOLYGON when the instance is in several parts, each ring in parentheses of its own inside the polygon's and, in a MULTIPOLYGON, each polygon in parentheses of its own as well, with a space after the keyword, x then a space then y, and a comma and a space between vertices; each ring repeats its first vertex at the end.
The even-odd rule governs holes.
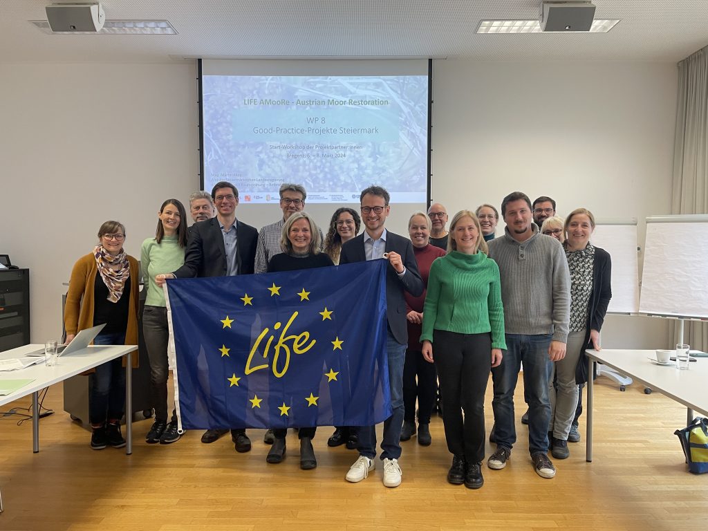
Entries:
POLYGON ((491 367, 501 363, 506 348, 501 282, 474 213, 455 214, 447 246, 447 255, 430 267, 423 357, 435 360, 438 370, 445 439, 453 456, 447 481, 479 489, 484 484, 484 393, 491 367))

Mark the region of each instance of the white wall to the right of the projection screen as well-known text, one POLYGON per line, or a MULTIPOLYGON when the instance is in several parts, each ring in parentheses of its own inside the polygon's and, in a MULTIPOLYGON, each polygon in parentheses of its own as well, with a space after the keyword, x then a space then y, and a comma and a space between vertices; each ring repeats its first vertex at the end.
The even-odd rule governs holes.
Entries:
MULTIPOLYGON (((674 64, 435 61, 431 196, 452 214, 549 195, 559 215, 636 217, 642 242, 644 218, 670 212, 676 90, 674 64)), ((614 316, 603 343, 666 347, 667 330, 614 316)))

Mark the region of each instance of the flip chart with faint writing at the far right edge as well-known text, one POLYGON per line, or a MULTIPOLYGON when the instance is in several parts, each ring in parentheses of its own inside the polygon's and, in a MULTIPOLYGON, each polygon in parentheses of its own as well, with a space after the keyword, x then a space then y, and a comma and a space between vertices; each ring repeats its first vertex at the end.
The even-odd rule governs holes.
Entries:
POLYGON ((646 218, 639 312, 708 319, 708 215, 646 218))

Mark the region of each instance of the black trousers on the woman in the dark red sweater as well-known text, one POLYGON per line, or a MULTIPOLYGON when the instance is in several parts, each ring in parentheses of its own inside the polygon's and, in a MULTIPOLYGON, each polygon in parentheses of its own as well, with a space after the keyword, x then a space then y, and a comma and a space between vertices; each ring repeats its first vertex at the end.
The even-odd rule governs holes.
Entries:
POLYGON ((416 398, 418 399, 418 423, 430 423, 430 414, 435 407, 435 392, 438 379, 435 365, 423 358, 420 350, 406 350, 403 366, 404 421, 416 420, 416 398))

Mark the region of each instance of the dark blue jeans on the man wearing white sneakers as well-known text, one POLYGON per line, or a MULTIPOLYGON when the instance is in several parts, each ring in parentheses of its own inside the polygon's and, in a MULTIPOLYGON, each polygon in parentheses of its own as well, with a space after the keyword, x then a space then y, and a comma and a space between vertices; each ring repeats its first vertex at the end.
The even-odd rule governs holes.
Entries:
MULTIPOLYGON (((384 421, 384 438, 381 441, 381 459, 401 457, 401 428, 405 408, 403 405, 403 366, 406 360, 406 345, 401 345, 388 331, 386 350, 389 360, 389 389, 392 415, 384 421)), ((376 426, 359 428, 359 453, 370 459, 376 457, 376 426)))

